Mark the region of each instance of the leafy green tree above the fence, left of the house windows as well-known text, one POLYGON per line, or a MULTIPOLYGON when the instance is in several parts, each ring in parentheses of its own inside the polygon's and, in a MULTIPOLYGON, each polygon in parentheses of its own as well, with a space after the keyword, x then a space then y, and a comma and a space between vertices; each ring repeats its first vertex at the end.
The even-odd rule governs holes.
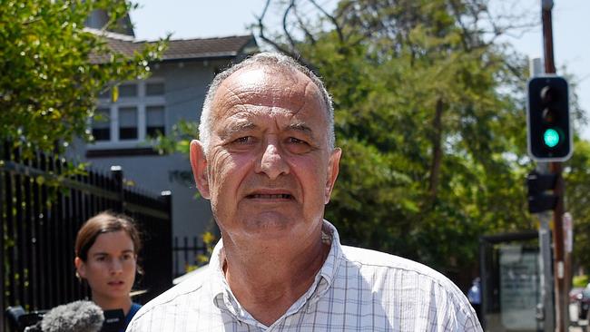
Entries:
POLYGON ((0 139, 45 151, 56 142, 63 149, 75 136, 92 140, 96 96, 148 75, 164 44, 133 56, 114 53, 84 21, 103 9, 110 17, 103 31, 110 30, 133 7, 119 0, 0 0, 0 139))

